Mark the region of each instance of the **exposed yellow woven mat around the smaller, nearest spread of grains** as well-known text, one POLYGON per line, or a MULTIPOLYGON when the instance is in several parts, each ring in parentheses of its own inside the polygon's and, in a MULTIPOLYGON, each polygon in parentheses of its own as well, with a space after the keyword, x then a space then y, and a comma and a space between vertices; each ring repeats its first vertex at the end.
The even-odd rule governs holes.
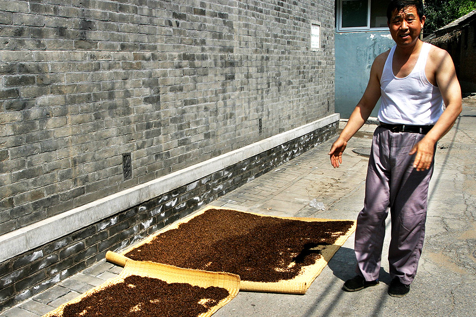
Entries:
MULTIPOLYGON (((209 308, 206 313, 199 315, 199 317, 209 317, 212 316, 216 311, 218 311, 221 307, 226 305, 230 302, 239 291, 239 276, 231 273, 219 273, 219 272, 207 272, 207 271, 200 271, 200 270, 190 270, 190 269, 183 269, 179 267, 174 267, 171 265, 166 264, 159 264, 147 261, 132 261, 128 259, 124 263, 124 269, 121 271, 119 276, 112 278, 105 283, 95 287, 94 289, 89 290, 88 292, 82 294, 81 296, 77 297, 76 299, 69 301, 66 304, 61 305, 57 309, 48 314, 44 315, 43 317, 52 317, 52 316, 63 316, 63 312, 66 306, 72 305, 75 303, 79 303, 81 300, 87 298, 88 296, 99 292, 101 290, 107 289, 115 284, 121 283, 124 279, 131 275, 137 275, 141 277, 149 277, 155 278, 167 283, 187 283, 192 286, 199 286, 202 288, 208 288, 210 286, 224 288, 229 292, 228 297, 221 300, 216 305, 209 308)), ((160 299, 157 299, 157 305, 160 305, 160 299)), ((204 298, 206 301, 207 299, 204 298)), ((136 303, 136 302, 132 302, 136 303)), ((125 306, 127 308, 128 303, 121 303, 121 306, 125 306)), ((135 304, 134 304, 135 305, 135 304)), ((177 303, 176 305, 181 305, 181 303, 177 303)), ((102 303, 97 303, 98 307, 102 306, 102 303)), ((107 308, 106 308, 107 309, 107 308)), ((137 311, 137 307, 130 307, 131 312, 135 310, 137 311)), ((87 312, 84 312, 85 314, 87 312)), ((84 316, 84 314, 80 314, 80 316, 84 316)), ((106 315, 101 315, 106 316, 106 315)), ((136 316, 136 315, 135 315, 136 316)), ((148 316, 148 315, 144 315, 148 316)), ((173 312, 170 312, 167 316, 174 316, 173 312)), ((179 317, 179 315, 176 315, 179 317)))

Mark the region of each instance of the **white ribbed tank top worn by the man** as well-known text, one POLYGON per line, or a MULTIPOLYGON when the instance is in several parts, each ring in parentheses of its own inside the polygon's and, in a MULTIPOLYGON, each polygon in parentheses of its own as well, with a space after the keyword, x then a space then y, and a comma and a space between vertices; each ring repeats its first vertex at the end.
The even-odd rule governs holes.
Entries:
POLYGON ((425 74, 431 44, 423 43, 418 61, 404 78, 393 74, 393 46, 388 54, 380 79, 381 105, 378 120, 384 123, 431 125, 443 113, 440 89, 433 86, 425 74))

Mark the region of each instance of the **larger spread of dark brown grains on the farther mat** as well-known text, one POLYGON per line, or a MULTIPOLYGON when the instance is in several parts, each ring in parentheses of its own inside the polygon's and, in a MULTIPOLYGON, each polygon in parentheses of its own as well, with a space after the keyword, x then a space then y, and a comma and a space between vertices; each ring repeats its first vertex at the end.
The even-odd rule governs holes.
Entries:
POLYGON ((229 272, 251 282, 296 277, 353 221, 300 221, 210 209, 126 254, 188 269, 229 272))

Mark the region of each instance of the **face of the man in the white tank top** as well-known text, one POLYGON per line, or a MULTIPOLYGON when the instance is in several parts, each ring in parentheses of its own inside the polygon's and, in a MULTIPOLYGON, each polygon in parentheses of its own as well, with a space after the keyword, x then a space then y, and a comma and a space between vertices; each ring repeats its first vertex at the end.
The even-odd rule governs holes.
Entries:
POLYGON ((418 16, 415 6, 406 6, 400 11, 394 10, 388 27, 395 43, 400 47, 415 45, 425 24, 425 16, 418 16))

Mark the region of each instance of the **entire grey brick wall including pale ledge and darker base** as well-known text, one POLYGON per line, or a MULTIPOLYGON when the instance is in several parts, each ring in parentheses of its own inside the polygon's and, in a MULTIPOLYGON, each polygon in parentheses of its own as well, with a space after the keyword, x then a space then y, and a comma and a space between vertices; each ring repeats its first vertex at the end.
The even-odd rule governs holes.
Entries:
POLYGON ((0 0, 0 307, 334 135, 334 34, 330 0, 0 0))

